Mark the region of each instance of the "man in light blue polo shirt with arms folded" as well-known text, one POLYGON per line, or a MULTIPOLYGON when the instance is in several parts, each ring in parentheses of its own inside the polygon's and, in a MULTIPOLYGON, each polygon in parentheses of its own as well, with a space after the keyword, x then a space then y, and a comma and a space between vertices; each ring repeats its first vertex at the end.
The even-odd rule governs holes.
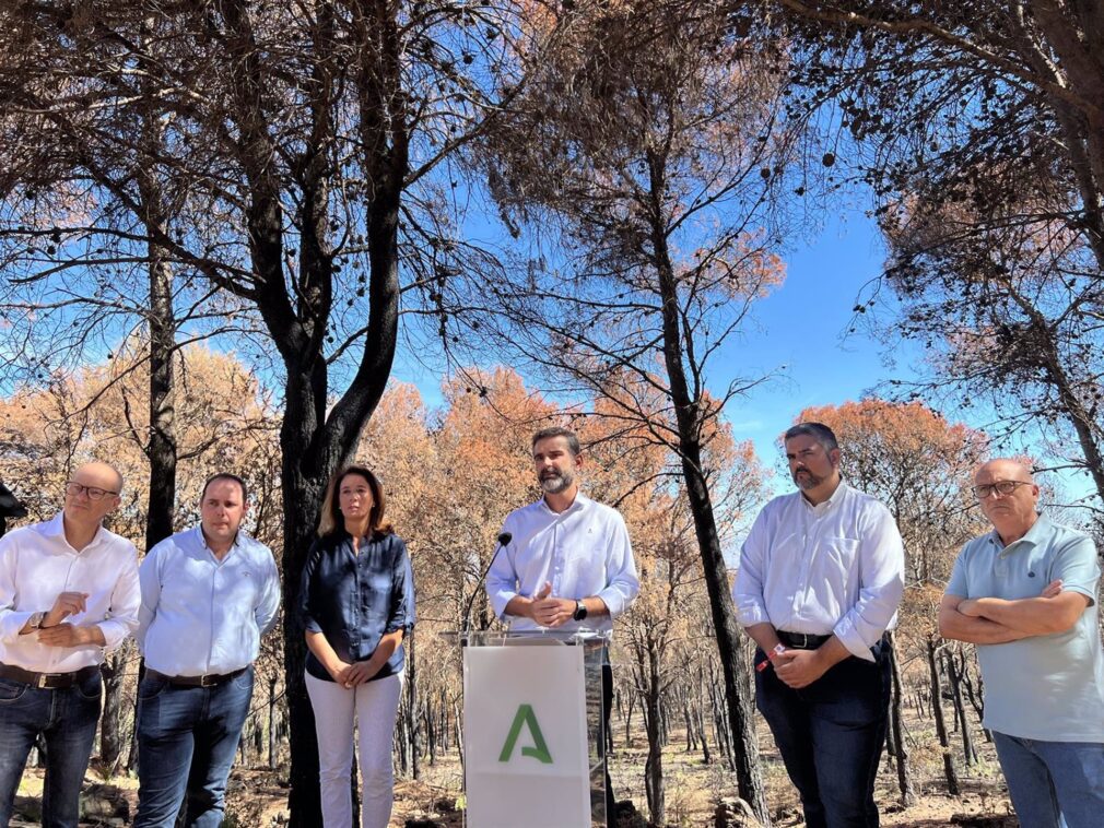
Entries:
POLYGON ((940 605, 940 633, 977 645, 985 721, 1020 822, 1104 819, 1101 570, 1092 540, 1039 514, 1031 473, 1008 459, 974 476, 994 531, 967 543, 940 605))

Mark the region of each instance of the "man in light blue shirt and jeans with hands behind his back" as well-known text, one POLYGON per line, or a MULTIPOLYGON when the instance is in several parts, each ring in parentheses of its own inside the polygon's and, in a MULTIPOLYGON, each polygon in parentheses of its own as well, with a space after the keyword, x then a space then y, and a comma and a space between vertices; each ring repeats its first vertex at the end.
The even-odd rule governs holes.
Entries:
POLYGON ((245 481, 206 481, 199 527, 141 563, 138 815, 135 826, 217 828, 253 698, 253 661, 276 624, 279 575, 267 546, 241 531, 245 481))

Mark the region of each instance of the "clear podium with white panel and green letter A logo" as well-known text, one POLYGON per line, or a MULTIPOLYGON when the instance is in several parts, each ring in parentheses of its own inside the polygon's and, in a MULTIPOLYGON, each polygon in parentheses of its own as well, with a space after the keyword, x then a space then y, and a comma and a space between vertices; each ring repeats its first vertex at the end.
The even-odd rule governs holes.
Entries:
POLYGON ((449 631, 468 828, 606 826, 605 631, 449 631))

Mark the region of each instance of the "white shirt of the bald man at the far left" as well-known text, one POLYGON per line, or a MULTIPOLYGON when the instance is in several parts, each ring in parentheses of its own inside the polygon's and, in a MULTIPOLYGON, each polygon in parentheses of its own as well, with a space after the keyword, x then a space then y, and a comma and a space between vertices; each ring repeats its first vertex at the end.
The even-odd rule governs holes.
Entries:
POLYGON ((95 624, 114 649, 138 626, 138 553, 135 544, 103 527, 77 552, 65 540, 60 512, 53 520, 17 529, 0 538, 0 664, 32 672, 73 672, 98 665, 104 648, 52 647, 38 633, 20 635, 31 615, 53 608, 63 592, 88 597, 83 613, 65 624, 95 624))

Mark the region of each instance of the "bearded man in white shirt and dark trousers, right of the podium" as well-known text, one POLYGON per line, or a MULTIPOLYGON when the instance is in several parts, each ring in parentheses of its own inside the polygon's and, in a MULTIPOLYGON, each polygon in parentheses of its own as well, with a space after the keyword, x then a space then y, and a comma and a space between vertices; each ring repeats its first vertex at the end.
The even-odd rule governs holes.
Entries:
POLYGON ((785 434, 798 491, 760 512, 733 597, 758 645, 756 705, 774 733, 809 828, 878 825, 874 775, 885 741, 890 644, 904 550, 882 503, 848 486, 836 435, 785 434))

